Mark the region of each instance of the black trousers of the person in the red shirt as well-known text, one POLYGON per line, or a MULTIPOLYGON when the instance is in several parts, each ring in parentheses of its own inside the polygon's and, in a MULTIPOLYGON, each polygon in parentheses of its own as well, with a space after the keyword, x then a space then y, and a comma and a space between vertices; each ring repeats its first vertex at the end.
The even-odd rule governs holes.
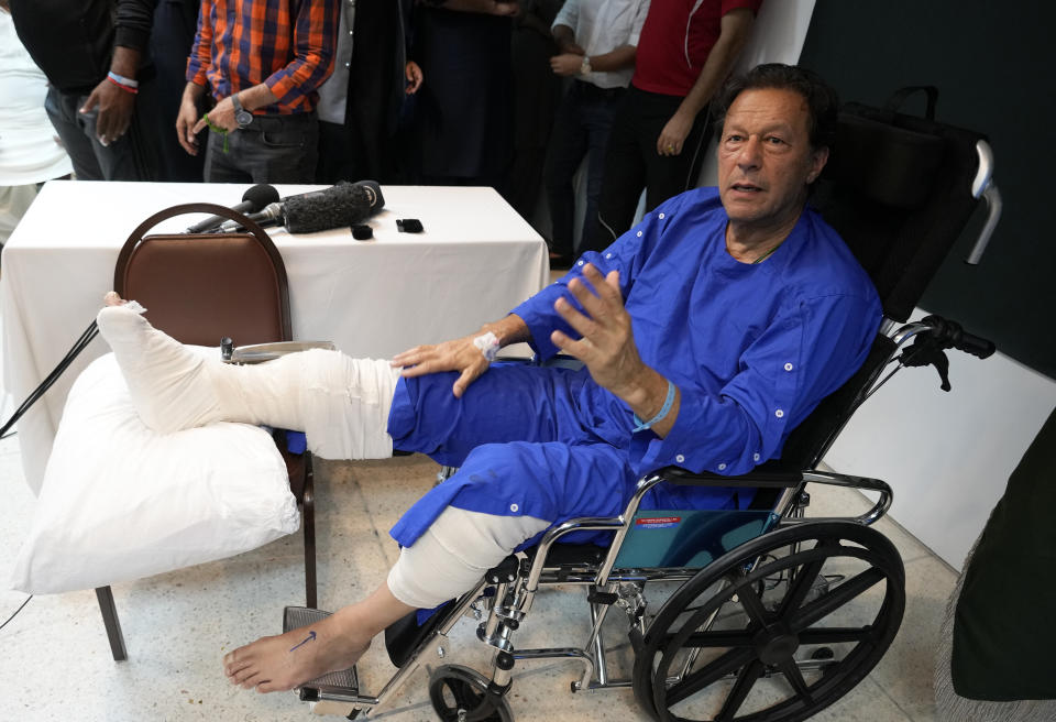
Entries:
POLYGON ((697 113, 679 155, 657 153, 657 139, 681 102, 679 96, 628 88, 608 136, 597 232, 580 252, 601 251, 630 228, 642 188, 649 211, 696 184, 711 136, 706 109, 697 113))

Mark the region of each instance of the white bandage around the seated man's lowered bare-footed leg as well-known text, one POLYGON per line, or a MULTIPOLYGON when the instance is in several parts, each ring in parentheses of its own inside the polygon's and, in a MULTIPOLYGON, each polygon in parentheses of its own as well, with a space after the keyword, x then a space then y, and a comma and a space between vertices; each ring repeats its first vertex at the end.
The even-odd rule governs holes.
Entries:
POLYGON ((550 526, 535 516, 497 516, 449 506, 388 572, 404 604, 432 609, 473 588, 484 572, 550 526))

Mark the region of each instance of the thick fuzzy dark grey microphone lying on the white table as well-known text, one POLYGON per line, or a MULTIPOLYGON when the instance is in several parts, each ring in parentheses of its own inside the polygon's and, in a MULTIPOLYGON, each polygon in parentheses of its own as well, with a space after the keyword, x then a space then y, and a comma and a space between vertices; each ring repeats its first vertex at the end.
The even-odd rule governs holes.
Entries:
MULTIPOLYGON (((290 233, 315 233, 358 223, 385 205, 382 189, 373 180, 339 183, 322 190, 310 190, 283 198, 248 218, 260 226, 283 225, 290 233)), ((220 225, 221 232, 241 230, 232 220, 220 225)))

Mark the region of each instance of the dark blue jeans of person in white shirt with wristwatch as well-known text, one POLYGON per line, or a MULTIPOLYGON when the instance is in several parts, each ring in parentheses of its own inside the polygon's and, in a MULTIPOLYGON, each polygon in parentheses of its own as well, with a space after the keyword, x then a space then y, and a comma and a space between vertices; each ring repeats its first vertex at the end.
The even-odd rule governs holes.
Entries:
MULTIPOLYGON (((550 135, 550 147, 543 171, 553 237, 550 250, 561 255, 573 254, 575 192, 572 179, 587 155, 586 212, 583 218, 581 245, 590 241, 597 228, 597 197, 605 174, 605 146, 624 88, 603 89, 582 80, 573 80, 558 108, 550 135)), ((583 245, 583 248, 588 248, 583 245)))

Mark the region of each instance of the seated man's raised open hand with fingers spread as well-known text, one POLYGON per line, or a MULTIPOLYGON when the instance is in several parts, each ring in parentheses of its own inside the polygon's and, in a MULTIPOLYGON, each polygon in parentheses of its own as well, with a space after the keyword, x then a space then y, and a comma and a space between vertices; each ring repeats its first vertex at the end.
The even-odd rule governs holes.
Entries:
POLYGON ((569 282, 569 292, 583 307, 580 313, 564 298, 553 307, 582 338, 572 340, 561 331, 553 331, 550 340, 565 353, 586 364, 591 376, 601 386, 624 401, 638 390, 647 367, 638 355, 630 314, 624 308, 619 292, 619 272, 607 276, 592 264, 583 266, 583 280, 569 282), (596 295, 595 295, 596 293, 596 295))

